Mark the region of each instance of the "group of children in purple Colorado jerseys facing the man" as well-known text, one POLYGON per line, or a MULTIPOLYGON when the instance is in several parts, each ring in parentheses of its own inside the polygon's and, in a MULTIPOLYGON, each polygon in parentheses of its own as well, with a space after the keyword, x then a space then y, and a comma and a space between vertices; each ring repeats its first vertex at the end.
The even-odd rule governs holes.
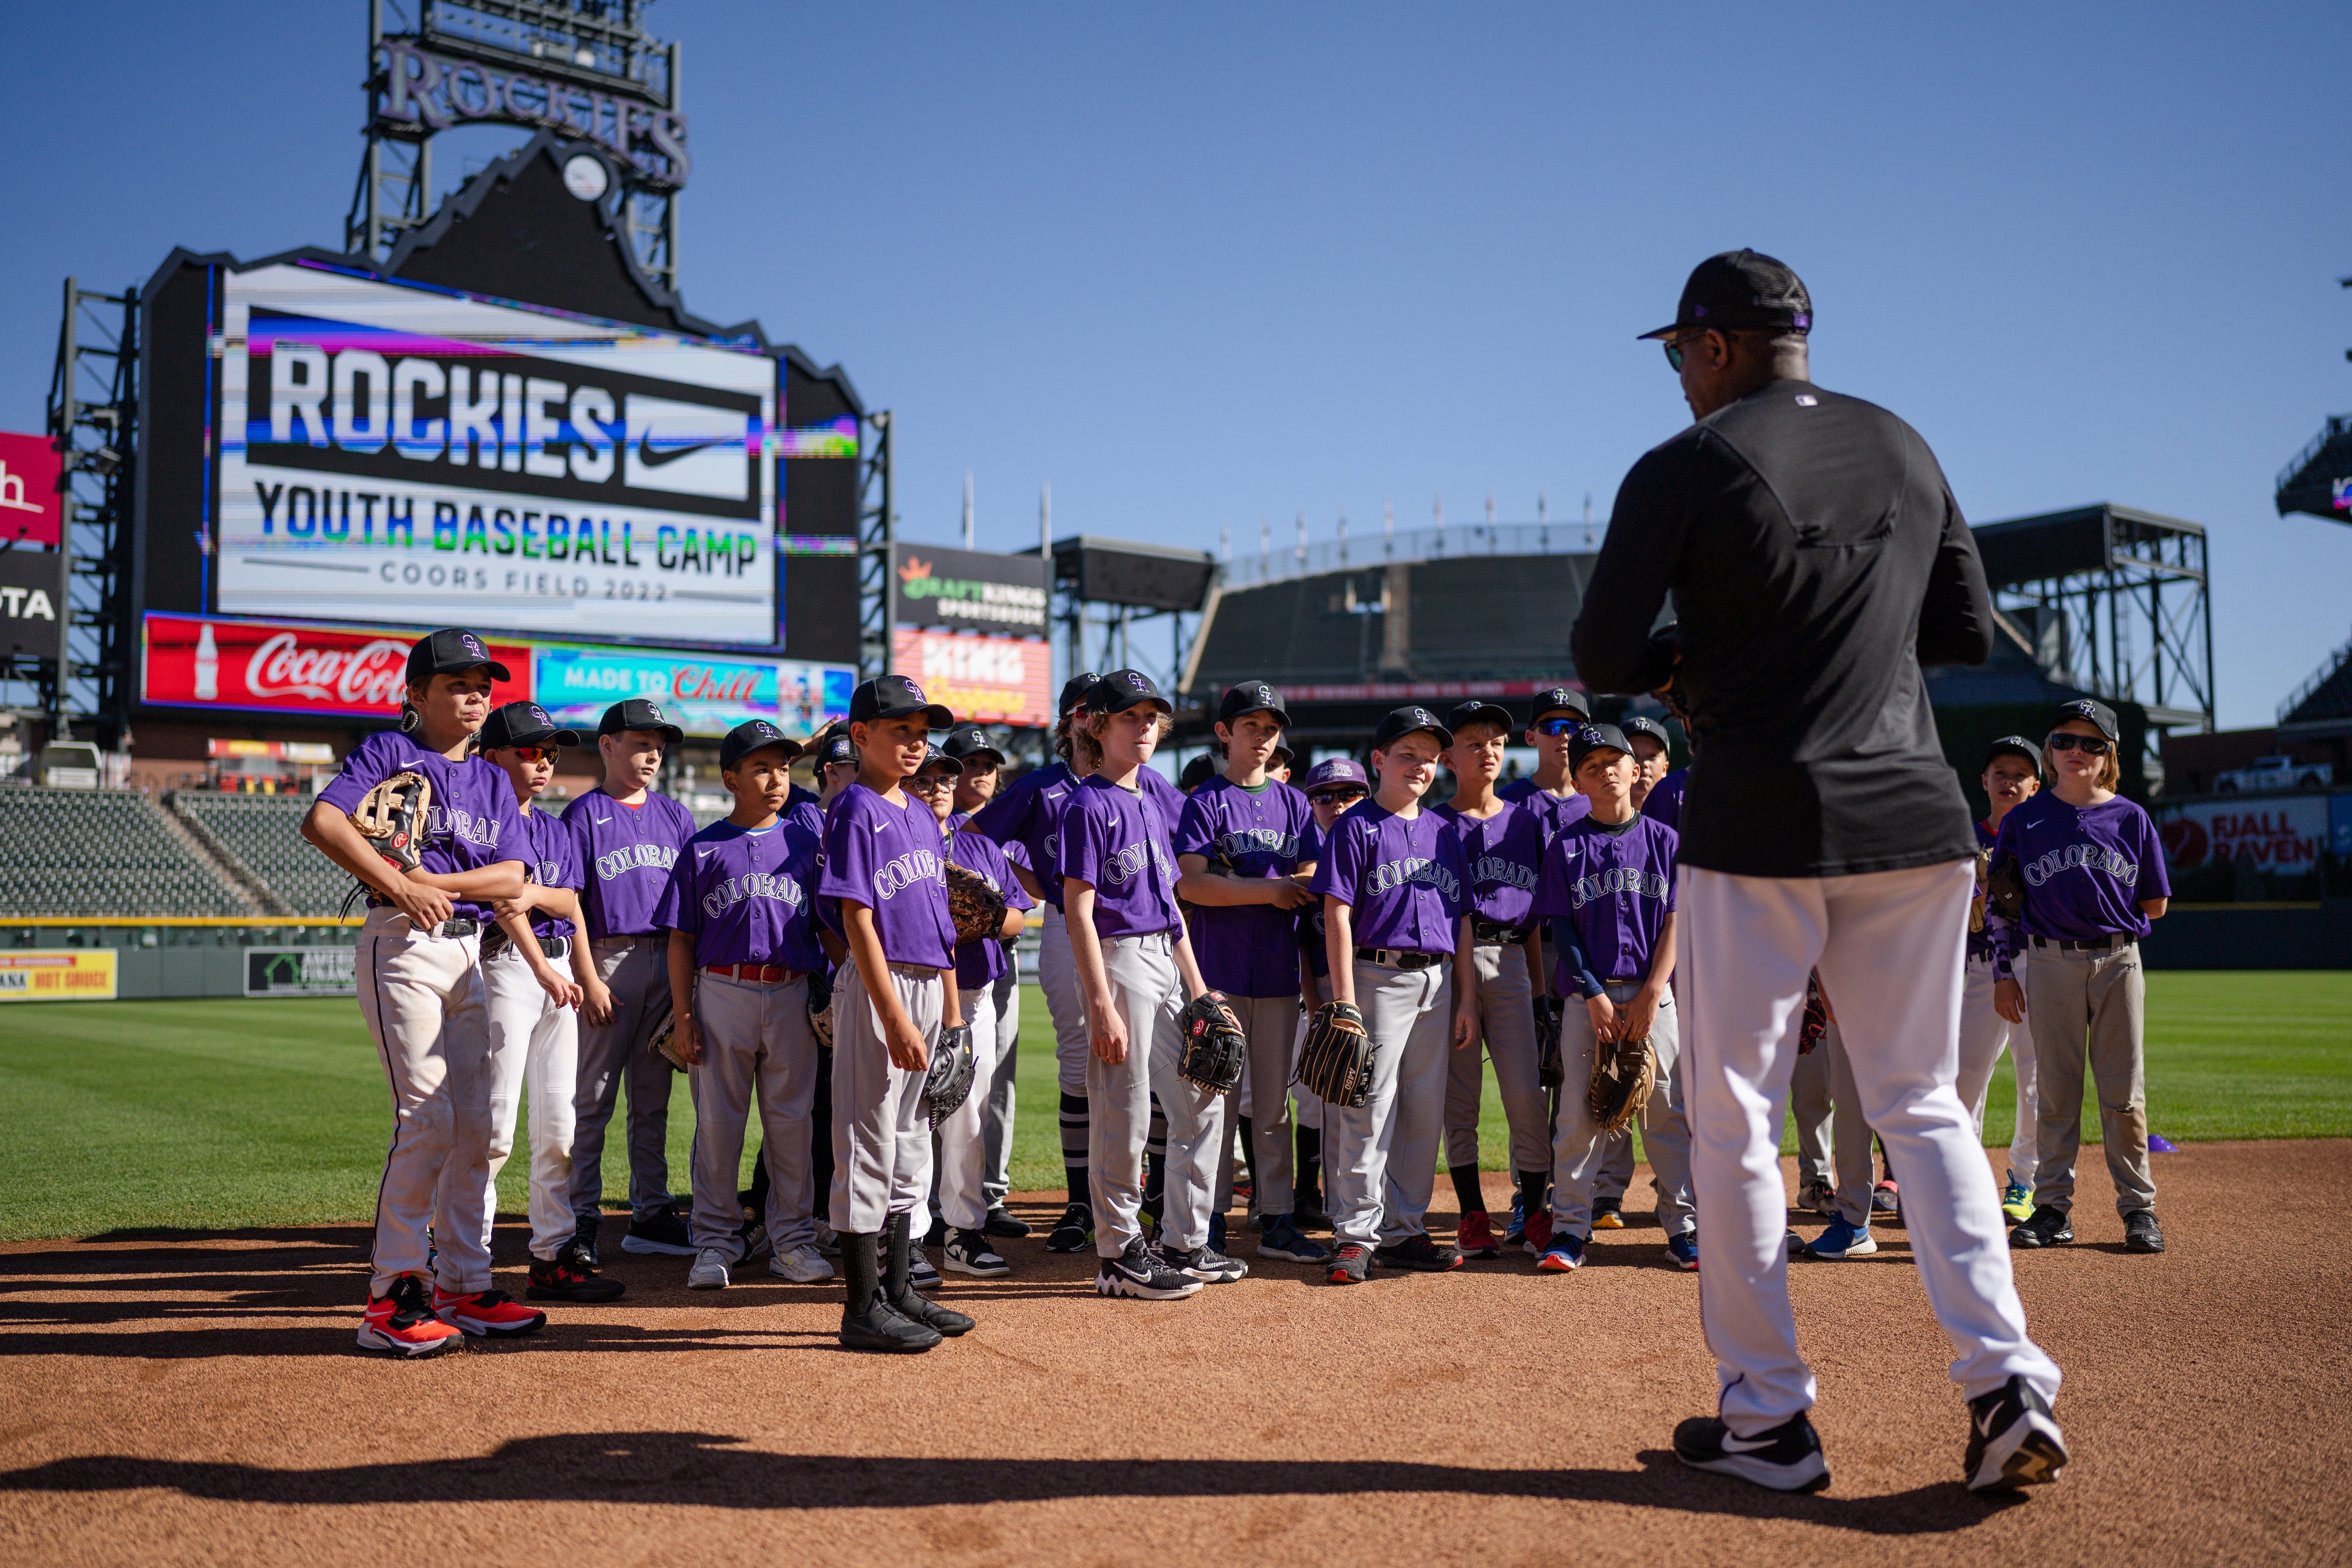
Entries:
MULTIPOLYGON (((524 1084, 527 1295, 621 1295, 597 1272, 597 1232, 623 1079, 623 1251, 694 1258, 691 1288, 724 1288, 757 1258, 776 1279, 823 1284, 837 1260, 840 1335, 858 1349, 920 1352, 969 1331, 922 1293, 938 1279, 927 1248, 950 1272, 995 1279, 1011 1267, 993 1241, 1028 1234, 1004 1197, 1009 952, 1033 917, 1070 1185, 1047 1251, 1091 1248, 1103 1295, 1174 1300, 1242 1279, 1249 1265, 1225 1251, 1237 1164, 1256 1258, 1331 1284, 1371 1267, 1446 1272, 1503 1246, 1543 1272, 1581 1267, 1592 1232, 1623 1225, 1632 1171, 1630 1138, 1602 1133, 1583 1093, 1595 1051, 1618 1037, 1651 1041, 1639 1128, 1656 1213, 1668 1258, 1698 1267, 1675 994, 1686 776, 1668 771, 1668 736, 1649 719, 1595 724, 1569 686, 1538 693, 1524 719, 1482 701, 1444 719, 1409 705, 1381 722, 1369 771, 1334 757, 1294 788, 1289 712, 1270 684, 1244 682, 1216 710, 1221 766, 1183 790, 1150 766, 1174 705, 1120 670, 1068 682, 1058 759, 997 790, 1004 757, 985 731, 955 726, 915 682, 877 677, 814 741, 816 795, 790 780, 804 743, 764 719, 729 731, 720 776, 734 811, 696 830, 652 790, 682 733, 642 698, 597 726, 602 783, 560 820, 539 811, 579 736, 532 703, 492 710, 492 679, 506 670, 473 632, 421 639, 402 726, 355 748, 303 825, 367 886, 360 999, 395 1100, 365 1347, 430 1354, 459 1333, 546 1324, 489 1276, 494 1185, 524 1084), (1498 788, 1515 736, 1538 769, 1498 788), (433 785, 423 865, 409 872, 348 818, 400 771, 433 785), (1442 771, 1451 797, 1425 804, 1442 771), (957 940, 948 863, 1004 898, 995 931, 957 940), (1178 1016, 1209 990, 1247 1037, 1228 1093, 1178 1072, 1178 1016), (1362 1105, 1291 1084, 1305 1020, 1327 1001, 1362 1013, 1362 1105), (684 1211, 666 1166, 673 1070, 649 1048, 663 1030, 689 1063, 696 1112, 684 1211), (974 1091, 934 1128, 924 1074, 950 1032, 969 1034, 974 1091), (1515 1173, 1501 1237, 1477 1175, 1489 1060, 1515 1173), (753 1121, 757 1178, 739 1194, 753 1121), (1439 1159, 1461 1208, 1451 1244, 1425 1225, 1439 1159)), ((2133 943, 2166 886, 2145 813, 2112 792, 2114 741, 2112 712, 2072 703, 2044 748, 2006 738, 1985 764, 1992 816, 1978 837, 2025 891, 2016 917, 1987 898, 1971 922, 1959 1093, 1983 1121, 1992 1065, 2011 1051, 2016 1246, 2072 1239, 2084 1048, 2037 1053, 2034 1039, 2089 1041, 2126 1244, 2164 1246, 2133 943)), ((1853 1258, 1872 1251, 1884 1194, 1835 1023, 1823 1044, 1792 1095, 1799 1204, 1832 1213, 1804 1251, 1853 1258)))

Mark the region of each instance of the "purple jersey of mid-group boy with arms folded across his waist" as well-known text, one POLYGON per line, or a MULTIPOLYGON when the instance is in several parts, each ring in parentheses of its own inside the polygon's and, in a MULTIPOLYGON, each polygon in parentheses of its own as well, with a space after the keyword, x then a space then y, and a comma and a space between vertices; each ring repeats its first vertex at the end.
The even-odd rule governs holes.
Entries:
MULTIPOLYGON (((1176 853, 1225 856, 1235 877, 1289 877, 1312 830, 1315 809, 1287 783, 1244 790, 1211 776, 1185 797, 1176 853)), ((1270 903, 1200 905, 1192 910, 1192 957, 1200 978, 1228 997, 1296 997, 1298 912, 1270 903)))

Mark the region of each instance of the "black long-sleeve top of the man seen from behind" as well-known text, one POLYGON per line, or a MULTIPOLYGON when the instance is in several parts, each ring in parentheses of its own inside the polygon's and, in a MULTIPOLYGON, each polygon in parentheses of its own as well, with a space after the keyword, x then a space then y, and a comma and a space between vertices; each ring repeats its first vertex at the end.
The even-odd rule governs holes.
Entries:
POLYGON ((1592 691, 1675 672, 1684 863, 1846 877, 1976 853, 1922 665, 1992 651, 1985 567, 1936 454, 1886 409, 1776 381, 1649 451, 1569 646, 1592 691), (1651 635, 1670 592, 1672 644, 1651 635))

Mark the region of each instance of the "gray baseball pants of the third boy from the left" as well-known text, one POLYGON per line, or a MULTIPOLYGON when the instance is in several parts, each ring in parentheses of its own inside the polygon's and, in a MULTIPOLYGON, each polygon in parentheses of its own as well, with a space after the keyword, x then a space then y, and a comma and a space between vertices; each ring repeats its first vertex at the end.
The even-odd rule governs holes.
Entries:
POLYGON ((654 1030, 670 1016, 670 933, 588 943, 612 990, 612 1023, 581 1023, 572 1095, 572 1213, 595 1222, 604 1204, 604 1126, 628 1079, 628 1211, 649 1220, 670 1206, 670 1063, 654 1030))

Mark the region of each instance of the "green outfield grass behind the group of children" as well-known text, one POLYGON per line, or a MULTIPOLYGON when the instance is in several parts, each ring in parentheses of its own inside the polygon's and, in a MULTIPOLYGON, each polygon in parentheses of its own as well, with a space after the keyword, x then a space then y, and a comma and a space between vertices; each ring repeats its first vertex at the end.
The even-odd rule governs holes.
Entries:
MULTIPOLYGON (((2352 971, 2154 973, 2147 1013, 2147 1119, 2166 1138, 2352 1135, 2352 971)), ((1035 987, 1018 1086, 1014 1185, 1061 1187, 1054 1032, 1035 987)), ((2009 1140, 2009 1107, 2004 1060, 1992 1143, 2009 1140)), ((2096 1114, 2086 1133, 2098 1135, 2096 1114)), ((0 1239, 365 1220, 388 1135, 383 1070, 350 999, 0 1009, 0 1239)), ((680 1081, 680 1192, 691 1135, 680 1081)), ((499 1182, 508 1213, 524 1204, 527 1147, 517 1133, 499 1182)), ((1505 1166, 1491 1079, 1479 1152, 1505 1166)), ((614 1138, 604 1192, 626 1190, 614 1138)))

